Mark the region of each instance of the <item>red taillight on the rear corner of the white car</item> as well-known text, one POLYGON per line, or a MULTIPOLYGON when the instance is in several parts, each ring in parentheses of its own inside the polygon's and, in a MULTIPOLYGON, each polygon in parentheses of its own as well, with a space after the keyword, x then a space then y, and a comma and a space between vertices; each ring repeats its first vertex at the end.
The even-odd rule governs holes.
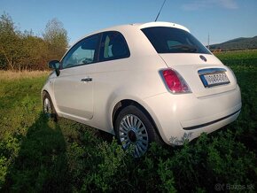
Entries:
POLYGON ((187 83, 183 80, 183 77, 175 70, 167 68, 160 71, 161 75, 167 85, 167 88, 172 93, 190 93, 191 89, 187 83))

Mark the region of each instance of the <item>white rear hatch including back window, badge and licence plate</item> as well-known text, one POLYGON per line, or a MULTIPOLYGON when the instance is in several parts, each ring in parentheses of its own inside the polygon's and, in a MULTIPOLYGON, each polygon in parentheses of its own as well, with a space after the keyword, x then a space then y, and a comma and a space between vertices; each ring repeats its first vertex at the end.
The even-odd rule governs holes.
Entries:
POLYGON ((180 25, 143 25, 144 35, 167 64, 183 77, 196 97, 206 97, 236 89, 234 74, 180 25))

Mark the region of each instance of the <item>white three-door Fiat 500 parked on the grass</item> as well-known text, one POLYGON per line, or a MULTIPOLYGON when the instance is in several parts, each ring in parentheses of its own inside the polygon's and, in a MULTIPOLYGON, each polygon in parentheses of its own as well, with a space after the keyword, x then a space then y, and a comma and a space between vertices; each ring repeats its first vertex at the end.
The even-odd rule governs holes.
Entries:
POLYGON ((136 157, 153 141, 179 145, 213 132, 241 109, 234 73, 174 23, 105 28, 49 66, 44 112, 116 135, 136 157))

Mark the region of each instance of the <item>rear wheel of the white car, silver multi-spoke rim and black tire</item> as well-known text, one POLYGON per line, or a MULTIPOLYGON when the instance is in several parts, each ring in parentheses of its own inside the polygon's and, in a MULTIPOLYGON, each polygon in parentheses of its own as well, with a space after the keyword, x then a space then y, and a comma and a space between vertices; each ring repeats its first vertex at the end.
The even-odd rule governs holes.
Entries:
POLYGON ((114 122, 114 130, 124 150, 132 146, 135 158, 142 157, 150 143, 160 141, 152 121, 134 105, 121 110, 114 122))

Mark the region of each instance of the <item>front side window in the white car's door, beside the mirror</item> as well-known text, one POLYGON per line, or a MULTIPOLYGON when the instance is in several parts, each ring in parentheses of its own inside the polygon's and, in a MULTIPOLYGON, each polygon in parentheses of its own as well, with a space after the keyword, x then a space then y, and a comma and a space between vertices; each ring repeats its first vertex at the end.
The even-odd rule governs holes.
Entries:
POLYGON ((62 60, 62 68, 87 65, 97 61, 99 35, 93 35, 78 42, 62 60))

